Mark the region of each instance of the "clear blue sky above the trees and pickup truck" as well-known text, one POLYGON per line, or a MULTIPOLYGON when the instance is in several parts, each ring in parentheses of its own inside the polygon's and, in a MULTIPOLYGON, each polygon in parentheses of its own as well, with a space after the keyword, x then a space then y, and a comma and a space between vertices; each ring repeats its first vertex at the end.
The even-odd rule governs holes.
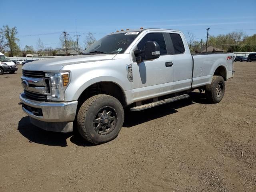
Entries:
POLYGON ((236 30, 255 34, 255 7, 256 0, 1 0, 0 27, 16 26, 20 47, 33 45, 35 50, 38 38, 56 48, 62 31, 73 37, 76 29, 80 44, 87 32, 99 39, 140 27, 190 31, 204 40, 208 27, 210 35, 236 30))

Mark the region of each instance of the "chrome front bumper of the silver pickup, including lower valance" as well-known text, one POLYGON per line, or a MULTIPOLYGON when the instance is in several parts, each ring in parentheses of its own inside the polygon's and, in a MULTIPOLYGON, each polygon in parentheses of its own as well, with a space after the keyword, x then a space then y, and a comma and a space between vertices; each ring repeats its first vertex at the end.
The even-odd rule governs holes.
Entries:
POLYGON ((47 131, 72 132, 76 118, 77 101, 42 102, 20 94, 22 110, 30 116, 30 122, 47 131))

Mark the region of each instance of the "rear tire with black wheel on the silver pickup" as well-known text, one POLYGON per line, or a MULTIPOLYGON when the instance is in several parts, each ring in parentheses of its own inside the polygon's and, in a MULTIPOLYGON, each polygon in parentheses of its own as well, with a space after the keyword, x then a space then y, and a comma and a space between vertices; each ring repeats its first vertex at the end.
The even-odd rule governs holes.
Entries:
POLYGON ((212 78, 212 83, 206 86, 205 93, 206 98, 210 103, 220 102, 225 93, 224 78, 222 76, 214 75, 212 78))

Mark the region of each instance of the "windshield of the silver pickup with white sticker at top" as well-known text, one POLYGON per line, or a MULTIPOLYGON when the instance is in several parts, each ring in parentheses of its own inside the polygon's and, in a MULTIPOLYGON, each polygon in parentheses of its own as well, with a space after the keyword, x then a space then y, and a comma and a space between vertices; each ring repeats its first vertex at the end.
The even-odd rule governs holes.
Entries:
POLYGON ((127 32, 113 35, 107 35, 96 41, 86 50, 84 54, 112 54, 123 53, 133 40, 138 36, 139 32, 127 32))

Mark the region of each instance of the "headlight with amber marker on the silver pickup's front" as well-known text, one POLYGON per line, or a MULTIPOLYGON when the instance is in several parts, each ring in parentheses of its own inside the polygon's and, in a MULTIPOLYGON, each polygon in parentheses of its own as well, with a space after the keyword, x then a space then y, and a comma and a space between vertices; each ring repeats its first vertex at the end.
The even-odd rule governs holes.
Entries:
POLYGON ((51 95, 47 96, 47 100, 65 100, 65 90, 70 82, 69 72, 62 73, 46 73, 46 78, 50 78, 51 95))

